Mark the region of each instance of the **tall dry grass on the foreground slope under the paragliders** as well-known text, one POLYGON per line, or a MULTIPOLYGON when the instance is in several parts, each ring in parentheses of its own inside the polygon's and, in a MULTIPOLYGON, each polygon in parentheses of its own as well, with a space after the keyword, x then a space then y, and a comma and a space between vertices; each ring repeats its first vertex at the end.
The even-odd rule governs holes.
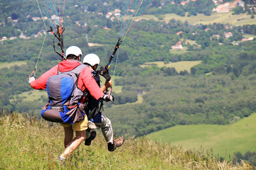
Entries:
POLYGON ((57 123, 19 113, 0 115, 1 169, 252 169, 244 162, 220 162, 210 154, 146 138, 126 137, 122 147, 108 152, 100 131, 90 147, 82 144, 73 157, 60 162, 63 133, 57 123))

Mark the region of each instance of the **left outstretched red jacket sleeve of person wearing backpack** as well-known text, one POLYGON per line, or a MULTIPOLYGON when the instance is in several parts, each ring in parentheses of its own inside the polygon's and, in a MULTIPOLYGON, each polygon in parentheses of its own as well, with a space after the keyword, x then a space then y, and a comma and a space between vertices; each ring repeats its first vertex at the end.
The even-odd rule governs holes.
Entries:
POLYGON ((49 77, 58 74, 58 65, 49 69, 47 72, 41 75, 38 79, 31 82, 31 87, 36 90, 43 90, 46 89, 47 81, 49 77))

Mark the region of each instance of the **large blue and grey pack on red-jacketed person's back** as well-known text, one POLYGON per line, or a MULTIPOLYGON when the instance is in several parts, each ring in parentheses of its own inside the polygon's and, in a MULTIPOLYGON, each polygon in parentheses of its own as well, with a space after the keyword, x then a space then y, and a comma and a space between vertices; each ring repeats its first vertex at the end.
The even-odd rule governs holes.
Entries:
POLYGON ((85 96, 78 88, 78 77, 85 64, 80 64, 69 72, 58 71, 47 81, 48 103, 41 116, 50 122, 73 124, 85 118, 85 104, 79 103, 85 96))

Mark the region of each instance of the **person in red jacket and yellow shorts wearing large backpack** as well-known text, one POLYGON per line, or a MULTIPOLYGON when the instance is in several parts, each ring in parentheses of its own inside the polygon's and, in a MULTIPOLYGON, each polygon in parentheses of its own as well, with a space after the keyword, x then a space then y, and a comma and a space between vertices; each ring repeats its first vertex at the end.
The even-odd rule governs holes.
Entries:
POLYGON ((33 89, 47 88, 49 101, 41 111, 42 117, 60 123, 64 128, 65 150, 60 154, 60 160, 65 160, 86 138, 88 121, 84 109, 87 103, 81 103, 85 90, 97 101, 113 99, 112 95, 102 92, 92 77, 90 67, 80 62, 81 56, 79 47, 68 47, 62 62, 38 79, 28 78, 28 83, 33 89), (73 130, 76 135, 74 138, 73 130))

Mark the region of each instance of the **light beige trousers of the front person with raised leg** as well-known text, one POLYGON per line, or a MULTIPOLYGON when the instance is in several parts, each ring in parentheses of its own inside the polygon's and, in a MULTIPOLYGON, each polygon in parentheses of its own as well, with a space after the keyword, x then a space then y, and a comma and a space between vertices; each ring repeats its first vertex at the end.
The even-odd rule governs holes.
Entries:
MULTIPOLYGON (((88 129, 100 129, 102 130, 102 134, 105 137, 107 143, 113 143, 113 130, 110 119, 108 119, 103 113, 101 118, 101 123, 93 123, 92 121, 88 121, 88 129)), ((86 131, 87 132, 87 131, 86 131)), ((90 132, 87 132, 86 137, 90 137, 90 132)))

